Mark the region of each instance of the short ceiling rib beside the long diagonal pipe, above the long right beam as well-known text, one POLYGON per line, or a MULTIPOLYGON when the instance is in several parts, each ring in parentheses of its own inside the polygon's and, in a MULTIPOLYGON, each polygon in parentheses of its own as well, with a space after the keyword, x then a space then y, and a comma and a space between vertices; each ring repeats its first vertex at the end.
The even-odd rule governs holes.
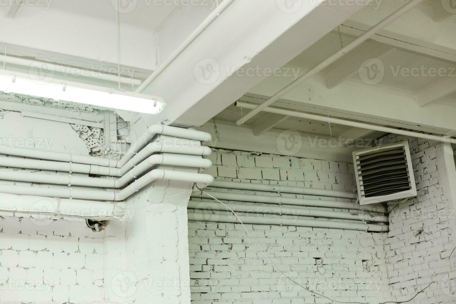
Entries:
POLYGON ((380 59, 394 48, 384 43, 375 43, 368 40, 352 52, 335 62, 326 72, 326 87, 332 89, 345 78, 358 73, 362 64, 369 65, 369 61, 380 59))

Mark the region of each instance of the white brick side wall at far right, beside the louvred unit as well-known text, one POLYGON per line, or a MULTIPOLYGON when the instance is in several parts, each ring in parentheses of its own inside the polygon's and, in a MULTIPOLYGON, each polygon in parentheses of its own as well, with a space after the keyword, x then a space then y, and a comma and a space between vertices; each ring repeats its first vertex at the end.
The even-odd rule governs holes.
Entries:
POLYGON ((449 208, 440 185, 437 143, 390 135, 383 138, 383 144, 402 140, 409 141, 418 195, 399 206, 389 203, 390 232, 385 240, 385 249, 393 295, 398 301, 409 300, 429 283, 435 282, 409 303, 454 304, 456 258, 453 257, 443 269, 443 274, 436 277, 451 250, 456 247, 448 227, 448 217, 454 218, 455 213, 449 208))

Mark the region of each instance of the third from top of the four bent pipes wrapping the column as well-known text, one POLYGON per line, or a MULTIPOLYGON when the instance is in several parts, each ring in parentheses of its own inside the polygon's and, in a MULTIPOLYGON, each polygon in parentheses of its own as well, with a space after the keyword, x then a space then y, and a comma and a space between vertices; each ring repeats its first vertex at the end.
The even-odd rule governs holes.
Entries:
POLYGON ((78 185, 86 187, 122 188, 154 165, 207 168, 212 165, 212 162, 207 159, 194 159, 181 155, 152 155, 117 180, 88 176, 56 175, 5 170, 0 170, 0 180, 68 186, 78 185))

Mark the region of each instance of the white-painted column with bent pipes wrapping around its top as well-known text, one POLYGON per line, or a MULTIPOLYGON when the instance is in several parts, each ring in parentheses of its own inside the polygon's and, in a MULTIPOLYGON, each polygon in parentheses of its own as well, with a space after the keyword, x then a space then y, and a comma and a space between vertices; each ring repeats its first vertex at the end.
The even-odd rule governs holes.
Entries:
MULTIPOLYGON (((201 145, 199 141, 163 135, 154 141, 201 145)), ((195 168, 160 168, 197 172, 195 168)), ((159 180, 127 199, 126 208, 131 213, 126 217, 125 247, 119 235, 113 236, 106 251, 109 264, 111 256, 125 250, 125 263, 119 267, 111 263, 107 271, 105 298, 110 303, 190 304, 187 203, 192 186, 189 182, 159 180)))

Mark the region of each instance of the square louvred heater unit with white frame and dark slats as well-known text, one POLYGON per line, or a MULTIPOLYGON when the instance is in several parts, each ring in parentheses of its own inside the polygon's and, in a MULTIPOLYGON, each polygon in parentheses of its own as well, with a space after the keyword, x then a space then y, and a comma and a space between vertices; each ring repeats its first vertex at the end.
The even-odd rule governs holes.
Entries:
POLYGON ((353 164, 361 205, 416 196, 407 141, 355 151, 353 164))

